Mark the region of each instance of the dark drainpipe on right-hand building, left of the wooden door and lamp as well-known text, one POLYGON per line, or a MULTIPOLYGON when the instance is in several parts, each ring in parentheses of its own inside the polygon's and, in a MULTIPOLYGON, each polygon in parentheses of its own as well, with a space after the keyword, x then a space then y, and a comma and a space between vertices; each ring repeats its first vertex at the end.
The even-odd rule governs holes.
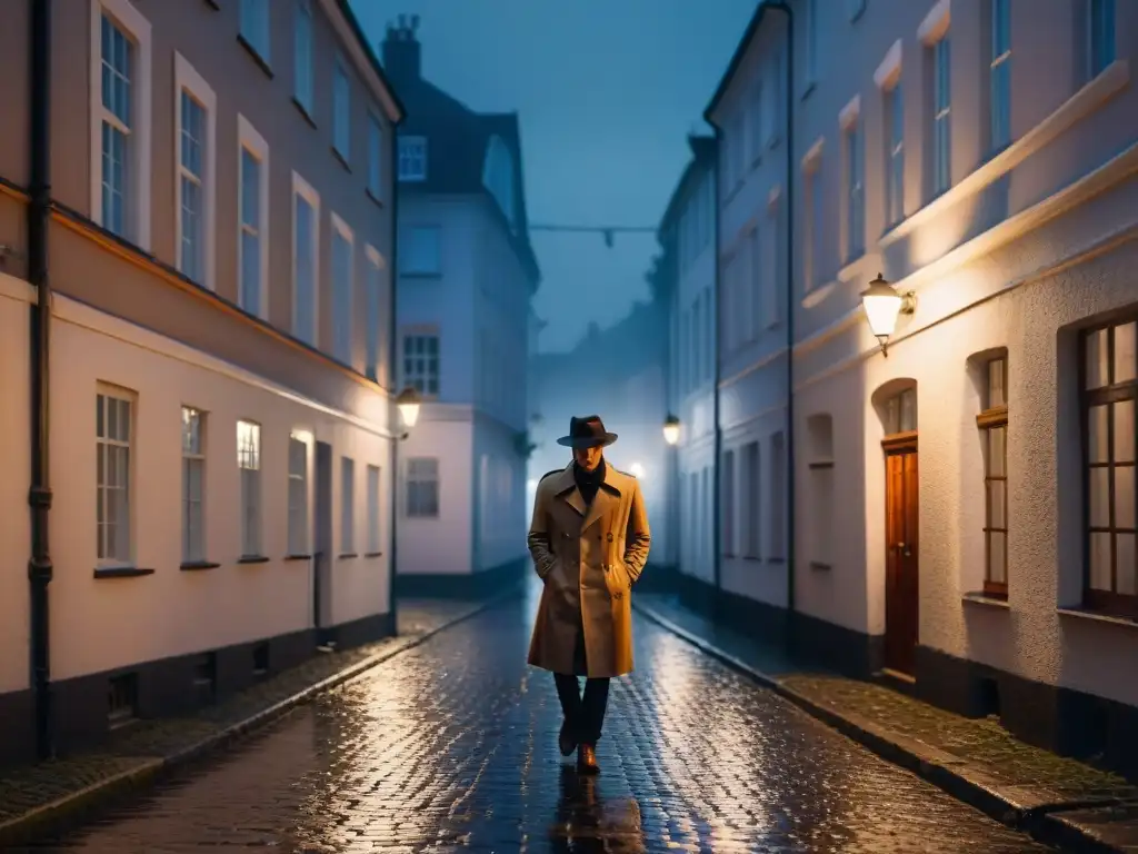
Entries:
POLYGON ((797 607, 797 484, 794 454, 794 10, 785 0, 767 6, 786 15, 786 647, 794 649, 797 607))

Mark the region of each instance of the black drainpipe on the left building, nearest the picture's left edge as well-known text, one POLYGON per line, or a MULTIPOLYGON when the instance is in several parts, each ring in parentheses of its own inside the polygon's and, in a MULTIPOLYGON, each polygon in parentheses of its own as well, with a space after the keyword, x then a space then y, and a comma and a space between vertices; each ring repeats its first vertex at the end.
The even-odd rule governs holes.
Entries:
POLYGON ((48 217, 51 207, 51 0, 33 0, 31 19, 31 199, 27 205, 27 279, 35 287, 31 312, 32 379, 32 557, 27 564, 31 586, 31 676, 35 705, 35 753, 55 755, 51 712, 51 635, 48 585, 51 553, 48 514, 51 510, 50 356, 51 282, 48 279, 48 217))

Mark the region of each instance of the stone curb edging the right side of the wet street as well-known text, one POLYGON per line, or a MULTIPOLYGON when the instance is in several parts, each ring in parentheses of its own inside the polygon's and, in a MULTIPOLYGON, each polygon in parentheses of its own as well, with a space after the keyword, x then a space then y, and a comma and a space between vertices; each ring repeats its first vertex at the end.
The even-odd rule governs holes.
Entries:
POLYGON ((1016 797, 1006 791, 999 781, 987 778, 982 771, 959 757, 893 732, 861 715, 839 712, 823 705, 673 623, 651 607, 635 603, 633 607, 671 634, 790 700, 803 712, 868 748, 881 758, 912 771, 957 800, 1006 827, 1028 834, 1046 845, 1062 846, 1064 851, 1096 854, 1124 851, 1066 820, 1062 814, 1056 814, 1062 810, 1115 806, 1122 803, 1118 798, 1053 803, 1042 797, 1031 797, 1032 793, 1023 790, 1022 787, 1020 787, 1022 796, 1016 797), (1032 803, 1025 803, 1029 799, 1032 803))

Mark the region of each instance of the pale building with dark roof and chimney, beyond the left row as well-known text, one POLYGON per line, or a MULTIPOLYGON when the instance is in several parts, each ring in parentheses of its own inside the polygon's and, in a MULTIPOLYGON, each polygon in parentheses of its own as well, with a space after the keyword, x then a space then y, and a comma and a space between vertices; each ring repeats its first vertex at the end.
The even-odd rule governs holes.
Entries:
POLYGON ((418 19, 389 26, 399 130, 401 387, 424 397, 401 447, 402 590, 462 594, 525 567, 530 297, 516 114, 476 113, 423 79, 418 19))

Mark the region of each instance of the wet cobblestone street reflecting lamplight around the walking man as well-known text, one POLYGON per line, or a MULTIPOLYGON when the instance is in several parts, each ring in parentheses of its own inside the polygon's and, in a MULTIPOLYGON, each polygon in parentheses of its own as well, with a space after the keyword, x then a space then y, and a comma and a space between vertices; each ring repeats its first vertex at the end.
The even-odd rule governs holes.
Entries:
POLYGON ((34 851, 1046 851, 645 619, 578 780, 534 601, 461 623, 34 851))

